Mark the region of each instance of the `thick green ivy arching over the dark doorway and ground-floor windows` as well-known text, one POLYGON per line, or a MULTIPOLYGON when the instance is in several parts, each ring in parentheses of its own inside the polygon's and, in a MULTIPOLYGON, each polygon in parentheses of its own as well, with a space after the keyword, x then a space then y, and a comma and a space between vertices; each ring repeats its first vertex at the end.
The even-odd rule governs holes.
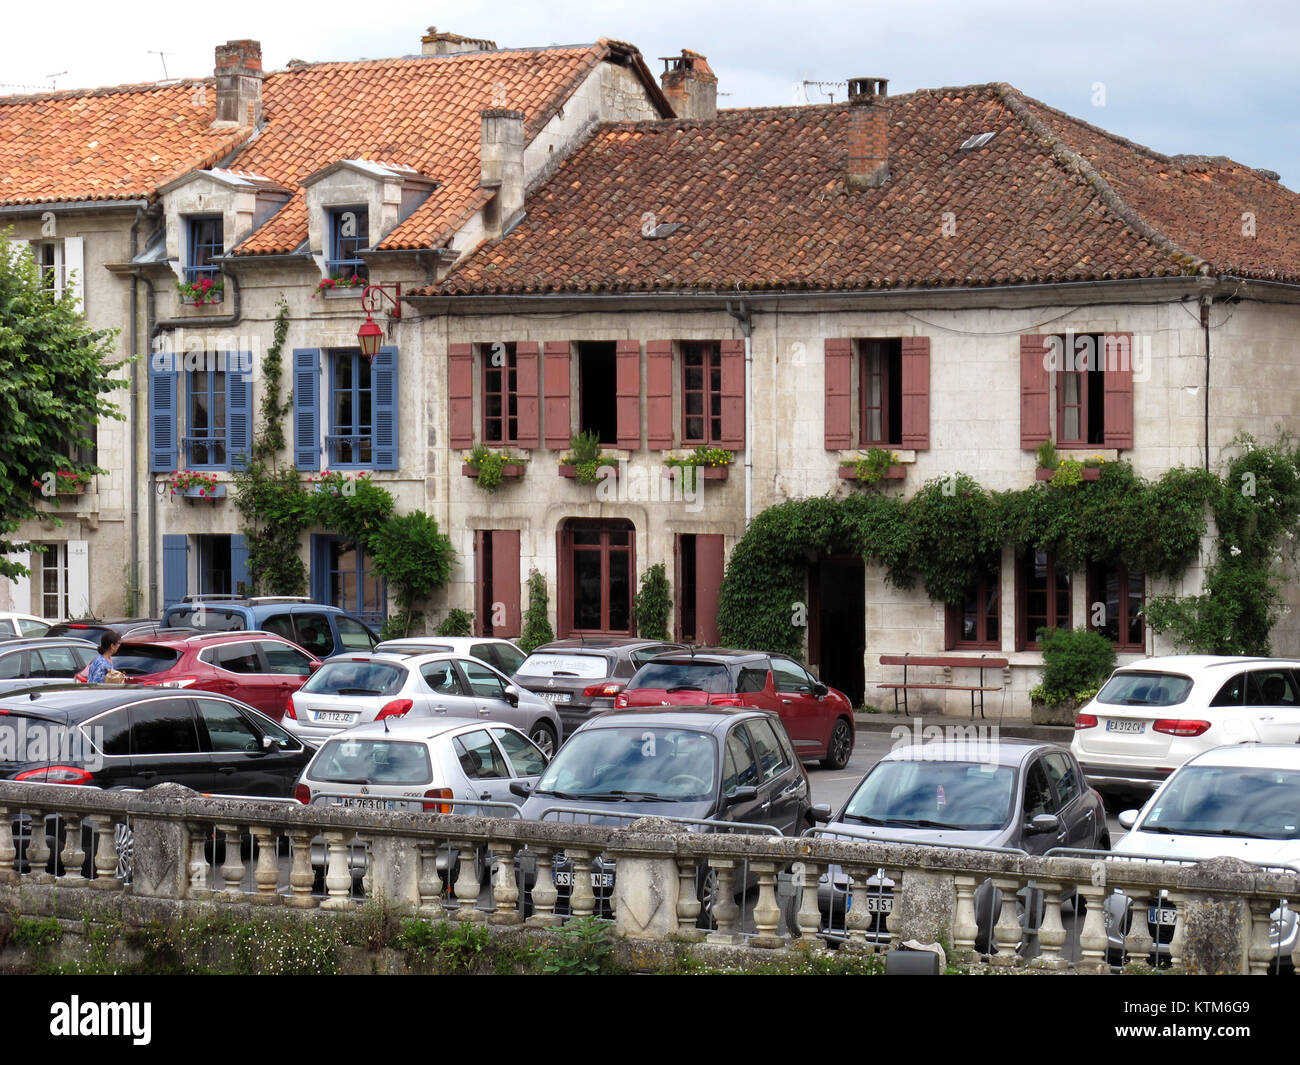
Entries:
POLYGON ((798 654, 807 566, 818 555, 861 555, 881 566, 889 584, 919 580, 939 602, 959 602, 1006 545, 1052 551, 1070 570, 1123 560, 1149 576, 1176 577, 1197 558, 1219 486, 1202 469, 1145 481, 1127 463, 1108 463, 1097 481, 1071 486, 989 492, 952 475, 907 499, 793 499, 758 515, 732 551, 719 635, 729 646, 798 654))

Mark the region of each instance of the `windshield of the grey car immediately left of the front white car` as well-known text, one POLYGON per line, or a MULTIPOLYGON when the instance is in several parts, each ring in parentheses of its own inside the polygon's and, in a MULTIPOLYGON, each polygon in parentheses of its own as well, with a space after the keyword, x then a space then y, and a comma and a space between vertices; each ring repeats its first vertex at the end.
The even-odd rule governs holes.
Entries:
POLYGON ((905 828, 1001 828, 1011 818, 1015 774, 980 762, 887 761, 862 782, 845 821, 905 828))

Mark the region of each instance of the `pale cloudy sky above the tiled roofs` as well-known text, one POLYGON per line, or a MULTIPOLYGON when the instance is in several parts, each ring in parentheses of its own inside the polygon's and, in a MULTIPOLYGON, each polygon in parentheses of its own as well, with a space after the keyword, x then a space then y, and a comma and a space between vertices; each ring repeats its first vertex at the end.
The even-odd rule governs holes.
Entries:
POLYGON ((719 78, 720 107, 845 96, 849 77, 889 91, 1010 82, 1093 125, 1167 153, 1227 155, 1277 170, 1300 190, 1296 48, 1300 5, 1148 0, 1054 5, 1024 0, 460 0, 385 4, 8 5, 0 92, 156 81, 212 73, 213 47, 263 44, 268 70, 291 59, 419 53, 439 30, 499 46, 630 42, 658 56, 693 48, 719 78), (156 52, 165 52, 160 57, 156 52))

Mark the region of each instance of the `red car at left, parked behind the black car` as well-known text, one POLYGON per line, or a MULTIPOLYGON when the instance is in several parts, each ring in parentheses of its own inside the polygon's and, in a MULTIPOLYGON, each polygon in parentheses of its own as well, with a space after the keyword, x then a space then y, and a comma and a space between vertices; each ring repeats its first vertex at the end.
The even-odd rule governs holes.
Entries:
MULTIPOLYGON (((127 684, 194 688, 247 702, 268 718, 285 717, 289 697, 320 668, 320 659, 269 632, 178 631, 125 638, 113 668, 127 684)), ((88 667, 87 667, 88 668, 88 667)), ((86 683, 86 670, 77 674, 86 683)))

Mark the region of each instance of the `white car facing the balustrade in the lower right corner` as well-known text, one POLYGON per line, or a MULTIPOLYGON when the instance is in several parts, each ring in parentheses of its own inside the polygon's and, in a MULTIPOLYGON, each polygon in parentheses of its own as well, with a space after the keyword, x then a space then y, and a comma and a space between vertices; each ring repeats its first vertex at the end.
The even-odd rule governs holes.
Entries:
MULTIPOLYGON (((1192 756, 1140 811, 1124 810, 1119 823, 1130 831, 1115 854, 1188 862, 1227 857, 1300 873, 1300 748, 1236 744, 1192 756)), ((1113 893, 1105 910, 1110 958, 1118 962, 1131 904, 1113 893)), ((1150 960, 1160 964, 1169 957, 1176 910, 1158 900, 1144 915, 1154 944, 1150 960)), ((1291 967, 1297 927, 1296 912, 1283 900, 1269 934, 1275 966, 1291 967)))

